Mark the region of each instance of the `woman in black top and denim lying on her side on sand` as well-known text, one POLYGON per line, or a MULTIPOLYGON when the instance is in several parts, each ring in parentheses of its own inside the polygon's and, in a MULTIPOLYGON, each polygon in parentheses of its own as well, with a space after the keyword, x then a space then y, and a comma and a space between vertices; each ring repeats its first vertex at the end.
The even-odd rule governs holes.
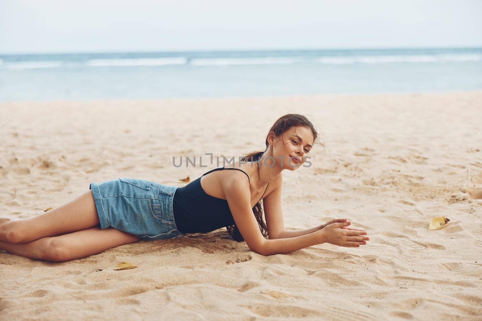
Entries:
POLYGON ((210 170, 184 187, 127 178, 91 183, 88 192, 39 216, 0 218, 0 250, 63 262, 141 239, 169 239, 222 227, 265 256, 323 243, 360 247, 369 240, 367 233, 348 228, 346 218, 302 231, 284 230, 281 171, 304 164, 317 138, 305 116, 288 114, 269 130, 265 151, 245 155, 234 166, 210 170))

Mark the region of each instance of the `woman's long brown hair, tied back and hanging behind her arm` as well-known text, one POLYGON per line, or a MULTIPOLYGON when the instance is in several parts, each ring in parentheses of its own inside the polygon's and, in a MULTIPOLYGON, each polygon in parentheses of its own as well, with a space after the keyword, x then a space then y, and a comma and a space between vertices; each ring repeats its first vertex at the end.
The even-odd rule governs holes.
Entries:
MULTIPOLYGON (((266 149, 264 151, 256 151, 253 153, 249 154, 244 154, 243 157, 241 158, 241 161, 247 161, 247 162, 256 162, 261 159, 264 153, 268 151, 269 143, 268 143, 268 136, 271 131, 274 131, 274 134, 276 137, 281 137, 281 135, 288 129, 292 128, 293 126, 303 126, 303 127, 308 127, 311 129, 311 132, 313 133, 313 138, 314 141, 317 140, 318 138, 318 132, 316 131, 315 127, 313 124, 308 120, 307 117, 299 114, 287 114, 284 116, 281 116, 278 118, 278 120, 275 121, 273 126, 268 131, 268 135, 266 135, 266 149)), ((324 147, 324 145, 321 143, 321 146, 324 147)), ((261 201, 259 201, 256 205, 254 205, 253 208, 253 213, 254 217, 258 221, 259 225, 259 230, 261 231, 261 234, 265 238, 268 237, 268 228, 266 227, 266 222, 263 218, 263 209, 261 207, 261 201)), ((242 242, 244 241, 244 238, 242 237, 240 231, 238 230, 238 227, 236 224, 234 225, 229 225, 226 227, 226 230, 228 231, 229 235, 231 237, 238 241, 242 242)))

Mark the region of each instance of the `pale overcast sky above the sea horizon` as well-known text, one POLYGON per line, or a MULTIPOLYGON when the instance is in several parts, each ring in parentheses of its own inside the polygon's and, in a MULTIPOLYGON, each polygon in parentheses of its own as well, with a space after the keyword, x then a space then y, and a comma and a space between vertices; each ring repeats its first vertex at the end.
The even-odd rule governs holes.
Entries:
POLYGON ((0 53, 482 47, 481 0, 0 0, 0 53))

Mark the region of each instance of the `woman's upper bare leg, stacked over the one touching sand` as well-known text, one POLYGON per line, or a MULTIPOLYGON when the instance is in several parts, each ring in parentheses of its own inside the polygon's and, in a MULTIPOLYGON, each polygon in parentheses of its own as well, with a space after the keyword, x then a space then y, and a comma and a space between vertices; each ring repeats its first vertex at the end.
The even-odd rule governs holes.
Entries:
POLYGON ((92 191, 40 215, 17 220, 0 219, 0 241, 23 244, 43 237, 82 231, 99 225, 92 191))

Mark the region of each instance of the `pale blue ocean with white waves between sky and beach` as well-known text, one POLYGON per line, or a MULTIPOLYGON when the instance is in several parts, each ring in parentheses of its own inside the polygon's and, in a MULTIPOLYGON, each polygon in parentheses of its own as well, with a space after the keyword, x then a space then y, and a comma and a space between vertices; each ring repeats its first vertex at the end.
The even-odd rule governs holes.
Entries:
POLYGON ((482 48, 0 55, 0 101, 482 90, 482 48))

